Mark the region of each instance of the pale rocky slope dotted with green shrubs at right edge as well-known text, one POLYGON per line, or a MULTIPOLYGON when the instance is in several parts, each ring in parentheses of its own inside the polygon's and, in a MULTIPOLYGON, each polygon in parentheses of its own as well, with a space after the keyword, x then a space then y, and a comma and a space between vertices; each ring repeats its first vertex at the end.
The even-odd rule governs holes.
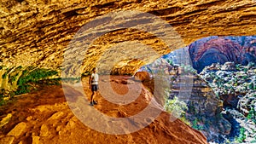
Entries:
POLYGON ((224 101, 222 115, 231 124, 226 135, 230 141, 253 143, 256 129, 256 81, 255 64, 247 66, 226 62, 222 65, 207 66, 200 73, 214 93, 224 101), (241 136, 244 135, 244 136, 241 136))

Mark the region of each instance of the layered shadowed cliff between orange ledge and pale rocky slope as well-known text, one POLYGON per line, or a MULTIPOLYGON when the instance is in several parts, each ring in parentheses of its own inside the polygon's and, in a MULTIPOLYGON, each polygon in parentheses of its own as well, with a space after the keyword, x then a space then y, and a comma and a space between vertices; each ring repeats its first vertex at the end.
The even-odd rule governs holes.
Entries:
MULTIPOLYGON (((174 55, 178 52, 174 51, 174 55)), ((184 56, 185 57, 185 56, 184 56)), ((167 59, 170 60, 170 59, 167 59)), ((142 71, 161 73, 161 77, 165 79, 165 85, 162 89, 156 89, 159 85, 155 82, 150 82, 148 86, 154 95, 160 95, 160 100, 166 99, 171 101, 182 101, 184 106, 180 103, 173 104, 172 107, 183 109, 184 114, 181 112, 172 111, 172 114, 177 118, 185 119, 184 122, 196 130, 200 130, 207 136, 207 141, 214 141, 221 143, 224 141, 226 135, 230 135, 231 124, 222 117, 223 101, 214 93, 212 88, 207 82, 196 74, 195 70, 191 67, 170 65, 164 59, 155 60, 154 63, 142 67, 142 71), (163 71, 163 72, 161 72, 163 71), (153 88, 154 87, 154 88, 153 88), (165 92, 170 90, 168 94, 165 92)), ((170 105, 168 101, 160 101, 162 105, 170 105)))

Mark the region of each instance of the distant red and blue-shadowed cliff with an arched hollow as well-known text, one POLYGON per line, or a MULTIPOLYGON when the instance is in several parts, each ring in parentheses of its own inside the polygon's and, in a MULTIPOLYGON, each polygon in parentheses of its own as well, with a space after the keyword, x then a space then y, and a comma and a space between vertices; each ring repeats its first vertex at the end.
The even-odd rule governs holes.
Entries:
POLYGON ((256 62, 256 37, 205 37, 189 45, 189 54, 198 72, 212 63, 247 65, 256 62))

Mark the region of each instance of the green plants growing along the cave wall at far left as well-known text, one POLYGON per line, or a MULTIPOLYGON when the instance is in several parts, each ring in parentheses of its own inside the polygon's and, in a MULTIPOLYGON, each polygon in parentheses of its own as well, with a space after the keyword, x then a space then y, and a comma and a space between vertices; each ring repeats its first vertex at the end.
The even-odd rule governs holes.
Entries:
MULTIPOLYGON (((0 90, 0 103, 3 104, 5 97, 12 98, 14 95, 20 95, 30 92, 32 89, 35 89, 35 85, 38 84, 39 81, 44 79, 49 79, 52 76, 56 76, 58 72, 37 68, 34 66, 28 67, 6 67, 1 66, 3 68, 3 75, 0 76, 5 79, 6 83, 4 83, 5 88, 0 90), (8 92, 8 93, 7 93, 8 92)), ((55 81, 49 84, 58 84, 56 81, 60 79, 55 79, 55 81)), ((48 84, 48 82, 44 83, 48 84)))

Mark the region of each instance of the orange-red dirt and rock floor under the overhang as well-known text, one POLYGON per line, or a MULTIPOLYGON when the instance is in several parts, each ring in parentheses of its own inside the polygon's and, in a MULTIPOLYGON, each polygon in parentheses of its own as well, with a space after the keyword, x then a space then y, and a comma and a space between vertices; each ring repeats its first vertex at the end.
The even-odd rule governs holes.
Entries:
MULTIPOLYGON (((143 111, 151 101, 152 95, 137 82, 127 80, 128 77, 116 76, 110 80, 102 78, 100 82, 103 95, 113 95, 108 88, 110 84, 113 91, 125 95, 131 90, 131 95, 140 95, 129 104, 114 104, 107 101, 102 95, 97 96, 98 112, 113 118, 126 118, 143 111), (104 85, 105 84, 105 85, 104 85), (129 84, 131 87, 129 87, 129 84), (137 85, 137 86, 132 86, 137 85), (139 91, 141 89, 141 91, 139 91)), ((89 100, 90 89, 87 84, 88 78, 83 80, 84 92, 89 100)), ((70 90, 72 95, 76 92, 70 90)), ((67 100, 70 97, 67 97, 67 100)), ((81 97, 73 97, 68 101, 81 102, 81 97)), ((122 102, 116 99, 116 103, 122 102)), ((89 105, 89 104, 88 104, 89 105)), ((86 106, 87 107, 87 106, 86 106)), ((154 107, 159 108, 159 107, 154 107)), ((85 110, 86 112, 90 112, 85 110)), ((44 88, 16 98, 15 102, 0 109, 3 125, 0 131, 0 143, 2 144, 39 144, 39 143, 68 143, 68 144, 103 144, 103 143, 207 143, 206 137, 197 130, 189 128, 180 120, 170 121, 170 114, 160 112, 159 117, 142 130, 126 135, 108 135, 84 125, 79 118, 74 116, 67 105, 65 95, 61 86, 44 86, 44 88), (11 117, 10 117, 11 116, 11 117)), ((88 114, 88 113, 87 113, 88 114)), ((90 118, 93 123, 98 124, 102 119, 90 118)), ((111 122, 110 122, 111 123, 111 122)), ((129 122, 127 122, 129 123, 129 122)), ((106 129, 111 129, 106 127, 106 129)), ((123 129, 120 125, 120 129, 123 129)))

